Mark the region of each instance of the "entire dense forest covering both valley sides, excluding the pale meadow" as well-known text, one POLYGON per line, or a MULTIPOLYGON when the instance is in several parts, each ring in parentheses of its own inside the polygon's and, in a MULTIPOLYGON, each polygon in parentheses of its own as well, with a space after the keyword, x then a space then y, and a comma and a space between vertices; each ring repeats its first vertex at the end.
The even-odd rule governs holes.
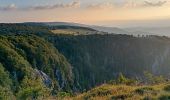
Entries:
POLYGON ((0 24, 0 99, 73 96, 109 83, 120 73, 142 84, 148 83, 146 72, 169 78, 168 37, 51 31, 68 28, 102 33, 42 23, 0 24))

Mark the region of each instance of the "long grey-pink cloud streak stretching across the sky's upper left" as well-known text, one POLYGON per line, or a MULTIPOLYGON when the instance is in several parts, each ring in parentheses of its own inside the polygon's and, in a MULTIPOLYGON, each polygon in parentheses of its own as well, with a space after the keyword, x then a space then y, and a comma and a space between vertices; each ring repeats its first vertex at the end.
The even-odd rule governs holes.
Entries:
POLYGON ((1 11, 11 11, 11 10, 46 10, 46 9, 56 9, 56 8, 78 8, 80 7, 80 1, 73 1, 71 3, 61 3, 54 5, 39 5, 39 6, 28 6, 24 8, 19 8, 15 4, 8 5, 6 7, 0 7, 1 11))

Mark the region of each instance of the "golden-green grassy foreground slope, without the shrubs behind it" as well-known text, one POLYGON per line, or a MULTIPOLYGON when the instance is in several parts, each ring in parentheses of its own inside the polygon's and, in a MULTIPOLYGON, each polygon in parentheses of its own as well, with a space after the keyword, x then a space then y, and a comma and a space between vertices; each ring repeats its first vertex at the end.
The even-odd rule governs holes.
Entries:
POLYGON ((88 92, 70 98, 74 100, 169 100, 170 85, 127 86, 104 84, 88 92))

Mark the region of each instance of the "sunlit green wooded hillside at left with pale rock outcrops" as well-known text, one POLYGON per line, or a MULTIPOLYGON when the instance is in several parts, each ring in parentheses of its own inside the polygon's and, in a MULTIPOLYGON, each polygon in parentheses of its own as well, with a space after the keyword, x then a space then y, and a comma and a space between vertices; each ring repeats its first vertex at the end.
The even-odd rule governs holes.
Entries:
POLYGON ((43 98, 57 91, 72 90, 71 65, 42 38, 0 36, 0 55, 0 98, 3 100, 43 98))

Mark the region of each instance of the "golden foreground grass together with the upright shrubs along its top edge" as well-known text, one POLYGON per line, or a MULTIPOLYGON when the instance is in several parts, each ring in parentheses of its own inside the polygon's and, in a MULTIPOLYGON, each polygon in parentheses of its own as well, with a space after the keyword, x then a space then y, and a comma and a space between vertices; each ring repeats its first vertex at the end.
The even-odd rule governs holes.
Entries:
POLYGON ((110 81, 83 94, 74 100, 169 100, 170 83, 160 76, 146 74, 147 83, 128 79, 119 74, 117 80, 110 81), (159 79, 159 81, 158 81, 159 79), (150 80, 150 81, 149 81, 150 80), (157 80, 157 81, 156 81, 157 80))

